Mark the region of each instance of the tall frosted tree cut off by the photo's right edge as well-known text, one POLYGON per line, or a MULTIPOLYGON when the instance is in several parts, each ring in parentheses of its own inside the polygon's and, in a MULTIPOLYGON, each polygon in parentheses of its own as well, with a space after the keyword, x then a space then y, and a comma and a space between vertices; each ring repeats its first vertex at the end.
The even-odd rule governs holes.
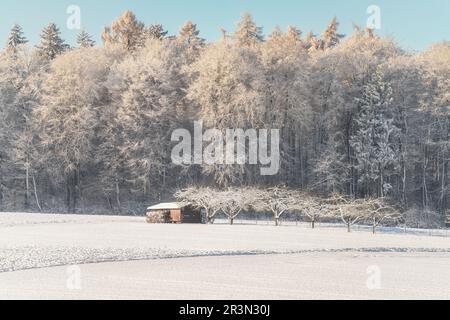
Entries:
POLYGON ((450 196, 450 43, 433 45, 416 58, 416 63, 422 66, 421 80, 424 85, 419 100, 422 118, 414 130, 417 132, 420 128, 421 133, 417 142, 422 155, 419 161, 422 168, 419 175, 422 206, 427 208, 437 201, 440 213, 445 214, 450 196))

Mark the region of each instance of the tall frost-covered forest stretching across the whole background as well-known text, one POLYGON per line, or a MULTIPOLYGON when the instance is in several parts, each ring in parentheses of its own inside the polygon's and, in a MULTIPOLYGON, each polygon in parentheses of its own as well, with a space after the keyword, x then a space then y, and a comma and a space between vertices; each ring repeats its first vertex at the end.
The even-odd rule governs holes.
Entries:
MULTIPOLYGON (((322 34, 263 33, 250 14, 207 42, 126 11, 96 44, 51 23, 0 53, 0 210, 136 214, 188 188, 282 187, 386 199, 442 224, 450 195, 450 43, 408 52, 336 18, 322 34), (280 170, 175 165, 171 134, 194 122, 279 129, 280 170)), ((372 201, 371 200, 371 201, 372 201)))

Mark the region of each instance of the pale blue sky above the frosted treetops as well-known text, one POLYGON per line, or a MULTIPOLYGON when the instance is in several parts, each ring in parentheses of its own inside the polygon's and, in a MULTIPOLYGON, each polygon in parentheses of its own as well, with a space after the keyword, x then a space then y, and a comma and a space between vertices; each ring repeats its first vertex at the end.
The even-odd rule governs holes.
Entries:
POLYGON ((233 30, 242 12, 250 12, 265 33, 275 26, 292 24, 304 33, 321 33, 327 21, 337 16, 341 33, 352 23, 365 25, 369 5, 381 8, 382 35, 394 37, 408 50, 422 50, 432 43, 450 40, 450 0, 1 0, 0 40, 5 42, 13 23, 22 25, 34 44, 42 28, 57 23, 64 38, 74 43, 77 30, 66 27, 69 5, 81 8, 82 27, 99 41, 102 26, 110 24, 125 9, 146 24, 162 23, 171 34, 187 20, 197 23, 208 40, 220 37, 220 28, 233 30))

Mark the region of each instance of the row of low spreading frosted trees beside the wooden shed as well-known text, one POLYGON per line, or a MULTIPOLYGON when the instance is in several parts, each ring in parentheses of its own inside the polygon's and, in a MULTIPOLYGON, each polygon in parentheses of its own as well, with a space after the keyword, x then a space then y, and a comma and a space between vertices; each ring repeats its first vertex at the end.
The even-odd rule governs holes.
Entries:
MULTIPOLYGON (((275 226, 279 226, 287 214, 296 214, 311 223, 342 222, 351 232, 357 223, 369 224, 375 234, 383 225, 398 226, 408 223, 406 214, 400 208, 382 198, 352 199, 342 194, 328 197, 317 196, 298 189, 286 187, 271 188, 229 188, 217 190, 210 187, 190 187, 175 194, 176 199, 184 206, 201 210, 206 223, 214 223, 222 214, 231 225, 245 212, 270 213, 275 226)), ((158 215, 159 213, 157 213, 158 215)), ((154 222, 152 213, 149 222, 154 222)), ((417 221, 414 221, 417 223, 417 221)))

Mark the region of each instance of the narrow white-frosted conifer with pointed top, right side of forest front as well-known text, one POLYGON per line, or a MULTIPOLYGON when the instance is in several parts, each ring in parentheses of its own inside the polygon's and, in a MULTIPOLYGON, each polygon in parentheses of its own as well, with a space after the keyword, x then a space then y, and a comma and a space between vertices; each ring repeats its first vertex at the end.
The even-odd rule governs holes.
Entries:
POLYGON ((397 168, 399 152, 396 138, 400 129, 394 123, 392 88, 377 70, 359 100, 356 134, 351 139, 365 195, 384 197, 392 188, 387 177, 397 168), (391 171, 391 172, 390 172, 391 171), (376 186, 371 190, 370 186, 376 186))

